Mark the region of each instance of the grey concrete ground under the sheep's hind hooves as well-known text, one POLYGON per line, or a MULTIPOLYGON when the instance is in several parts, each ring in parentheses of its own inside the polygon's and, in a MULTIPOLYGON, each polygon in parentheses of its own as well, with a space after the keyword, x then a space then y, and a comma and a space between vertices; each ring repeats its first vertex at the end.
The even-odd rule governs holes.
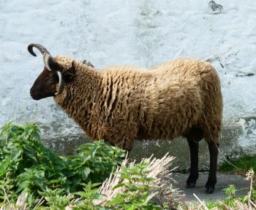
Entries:
POLYGON ((195 188, 186 188, 186 180, 189 174, 173 173, 172 177, 176 180, 174 187, 178 187, 182 193, 185 194, 185 201, 193 202, 197 201, 193 193, 200 198, 201 201, 217 201, 218 199, 225 198, 222 192, 229 184, 234 184, 238 192, 237 195, 246 195, 249 189, 249 182, 245 180, 243 176, 231 175, 231 174, 217 174, 217 184, 215 191, 212 194, 204 193, 205 184, 208 178, 208 173, 200 173, 197 179, 197 185, 195 188))

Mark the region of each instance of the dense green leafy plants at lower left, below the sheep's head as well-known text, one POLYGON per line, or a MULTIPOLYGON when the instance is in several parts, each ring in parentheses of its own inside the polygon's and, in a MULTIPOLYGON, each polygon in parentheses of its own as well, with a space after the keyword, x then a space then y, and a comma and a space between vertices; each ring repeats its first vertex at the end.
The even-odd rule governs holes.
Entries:
POLYGON ((56 192, 67 203, 64 196, 83 190, 86 183, 103 182, 124 156, 124 150, 97 141, 61 157, 42 144, 37 125, 8 123, 0 133, 0 200, 29 193, 34 201, 43 195, 53 205, 50 195, 56 192))

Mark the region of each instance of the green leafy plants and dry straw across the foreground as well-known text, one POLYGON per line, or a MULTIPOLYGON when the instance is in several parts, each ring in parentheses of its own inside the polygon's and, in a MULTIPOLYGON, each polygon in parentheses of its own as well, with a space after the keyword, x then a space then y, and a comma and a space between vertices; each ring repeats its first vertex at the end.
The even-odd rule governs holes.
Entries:
POLYGON ((199 202, 190 205, 167 182, 173 157, 128 163, 125 156, 95 141, 62 157, 42 144, 37 125, 8 123, 0 133, 0 209, 256 209, 253 169, 246 173, 247 195, 236 196, 230 185, 225 199, 204 202, 195 195, 199 202))

